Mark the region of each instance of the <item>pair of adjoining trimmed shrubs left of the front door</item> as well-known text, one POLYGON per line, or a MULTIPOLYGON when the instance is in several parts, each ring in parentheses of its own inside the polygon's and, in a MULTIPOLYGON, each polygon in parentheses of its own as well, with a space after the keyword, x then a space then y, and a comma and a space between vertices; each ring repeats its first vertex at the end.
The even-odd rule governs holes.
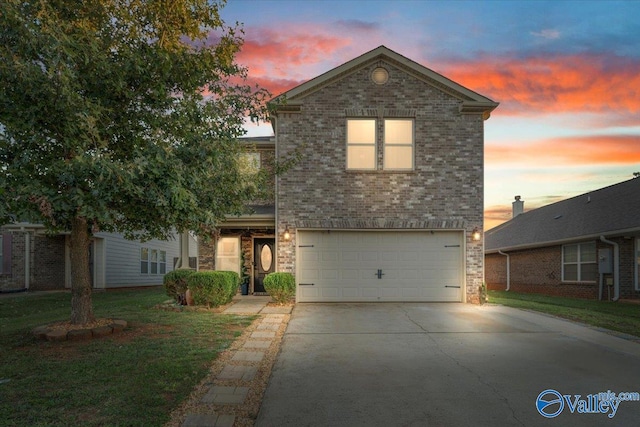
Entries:
POLYGON ((196 305, 219 307, 231 302, 240 285, 240 276, 233 271, 175 270, 164 276, 167 295, 178 304, 186 304, 189 289, 196 305))

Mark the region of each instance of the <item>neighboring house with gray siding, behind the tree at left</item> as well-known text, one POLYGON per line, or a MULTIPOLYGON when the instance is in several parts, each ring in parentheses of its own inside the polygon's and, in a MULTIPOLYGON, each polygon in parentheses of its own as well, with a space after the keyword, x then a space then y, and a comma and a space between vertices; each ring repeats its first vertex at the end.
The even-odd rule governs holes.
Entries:
MULTIPOLYGON (((16 223, 0 233, 0 292, 55 290, 71 287, 69 235, 45 233, 38 224, 16 223)), ((198 242, 191 237, 189 253, 197 265, 198 242)), ((157 286, 180 256, 175 240, 127 240, 118 233, 96 233, 90 248, 94 289, 157 286)))

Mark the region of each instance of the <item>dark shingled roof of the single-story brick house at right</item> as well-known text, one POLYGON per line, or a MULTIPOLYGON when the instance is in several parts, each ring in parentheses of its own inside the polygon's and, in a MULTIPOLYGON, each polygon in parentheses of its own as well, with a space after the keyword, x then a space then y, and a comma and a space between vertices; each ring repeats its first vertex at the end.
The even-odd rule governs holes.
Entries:
POLYGON ((640 232, 640 178, 525 213, 485 233, 485 253, 640 232))

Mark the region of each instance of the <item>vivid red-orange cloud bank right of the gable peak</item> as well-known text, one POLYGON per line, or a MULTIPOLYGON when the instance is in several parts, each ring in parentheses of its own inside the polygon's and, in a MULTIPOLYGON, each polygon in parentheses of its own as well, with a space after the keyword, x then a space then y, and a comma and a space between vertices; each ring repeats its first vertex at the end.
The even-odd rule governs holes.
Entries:
POLYGON ((501 102, 501 114, 640 112, 640 60, 613 55, 456 61, 444 74, 501 102))

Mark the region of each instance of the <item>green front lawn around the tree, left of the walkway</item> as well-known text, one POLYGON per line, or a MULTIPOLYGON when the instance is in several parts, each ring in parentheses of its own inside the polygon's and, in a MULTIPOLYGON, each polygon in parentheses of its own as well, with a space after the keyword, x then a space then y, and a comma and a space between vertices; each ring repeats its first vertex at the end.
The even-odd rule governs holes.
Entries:
POLYGON ((34 327, 69 319, 70 298, 0 298, 0 425, 162 425, 254 319, 158 310, 168 299, 158 288, 109 291, 94 293, 95 315, 127 320, 124 332, 37 341, 34 327))

